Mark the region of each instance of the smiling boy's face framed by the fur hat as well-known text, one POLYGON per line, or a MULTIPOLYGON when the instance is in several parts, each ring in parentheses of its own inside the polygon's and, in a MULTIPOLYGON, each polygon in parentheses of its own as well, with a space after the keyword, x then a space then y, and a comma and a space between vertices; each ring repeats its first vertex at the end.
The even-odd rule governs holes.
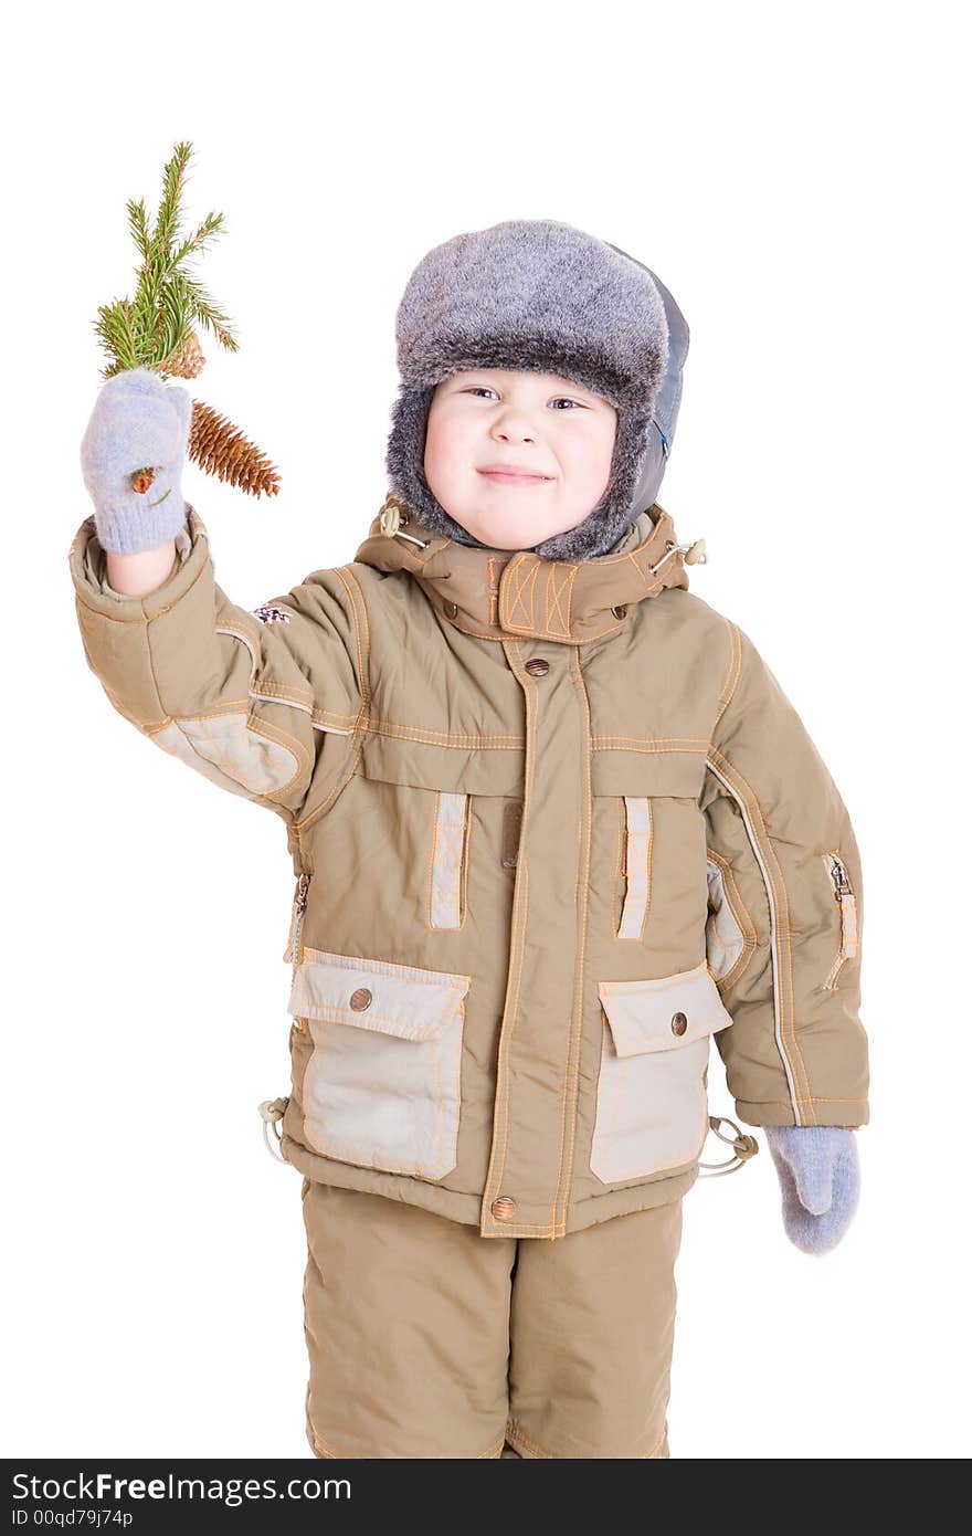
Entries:
POLYGON ((576 528, 597 505, 616 425, 610 401, 557 373, 450 373, 428 409, 425 479, 481 544, 530 550, 576 528), (528 475, 496 473, 502 465, 528 475))

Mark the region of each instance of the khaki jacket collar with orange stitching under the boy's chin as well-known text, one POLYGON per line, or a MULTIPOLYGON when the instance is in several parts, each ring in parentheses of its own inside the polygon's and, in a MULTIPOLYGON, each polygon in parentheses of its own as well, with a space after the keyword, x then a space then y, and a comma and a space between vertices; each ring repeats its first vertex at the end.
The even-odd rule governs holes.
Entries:
POLYGON ((671 516, 657 505, 639 513, 608 554, 545 561, 531 550, 491 550, 430 533, 416 511, 388 493, 356 561, 382 571, 407 570, 456 628, 485 639, 513 636, 580 645, 622 630, 628 605, 665 587, 688 587, 699 541, 679 544, 671 516))

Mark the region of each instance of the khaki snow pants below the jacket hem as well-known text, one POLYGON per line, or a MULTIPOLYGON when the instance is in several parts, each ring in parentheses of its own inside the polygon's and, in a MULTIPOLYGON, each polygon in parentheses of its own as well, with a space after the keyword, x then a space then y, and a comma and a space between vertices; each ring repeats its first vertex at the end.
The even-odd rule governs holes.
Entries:
POLYGON ((682 1200, 564 1238, 304 1180, 307 1439, 333 1458, 666 1458, 682 1200))

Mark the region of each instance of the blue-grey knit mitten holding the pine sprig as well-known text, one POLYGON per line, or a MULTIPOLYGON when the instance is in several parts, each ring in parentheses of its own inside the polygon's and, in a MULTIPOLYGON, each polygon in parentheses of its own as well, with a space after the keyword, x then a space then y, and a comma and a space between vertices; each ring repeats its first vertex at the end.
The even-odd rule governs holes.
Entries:
POLYGON ((186 525, 180 479, 190 427, 189 392, 163 384, 149 369, 126 369, 101 386, 81 439, 81 475, 103 550, 138 554, 186 525), (132 476, 141 468, 155 475, 137 492, 132 476))

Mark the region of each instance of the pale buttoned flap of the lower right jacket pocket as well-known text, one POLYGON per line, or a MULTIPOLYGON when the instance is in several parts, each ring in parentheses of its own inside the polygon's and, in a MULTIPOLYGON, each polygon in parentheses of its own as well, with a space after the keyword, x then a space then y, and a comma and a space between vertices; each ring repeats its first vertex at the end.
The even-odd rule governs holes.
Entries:
POLYGON ((708 962, 654 982, 599 982, 617 1055, 669 1051, 732 1023, 708 962))

